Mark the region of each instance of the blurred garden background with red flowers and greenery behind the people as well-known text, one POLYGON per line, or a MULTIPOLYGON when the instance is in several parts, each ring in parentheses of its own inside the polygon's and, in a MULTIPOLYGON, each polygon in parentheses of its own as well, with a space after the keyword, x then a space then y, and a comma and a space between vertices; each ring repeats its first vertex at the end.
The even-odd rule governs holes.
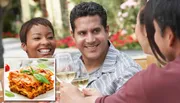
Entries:
POLYGON ((51 21, 57 48, 75 48, 70 35, 69 13, 83 1, 100 3, 107 10, 109 39, 116 48, 141 49, 134 35, 140 0, 0 0, 0 52, 3 51, 2 40, 19 39, 21 25, 33 17, 44 17, 51 21))

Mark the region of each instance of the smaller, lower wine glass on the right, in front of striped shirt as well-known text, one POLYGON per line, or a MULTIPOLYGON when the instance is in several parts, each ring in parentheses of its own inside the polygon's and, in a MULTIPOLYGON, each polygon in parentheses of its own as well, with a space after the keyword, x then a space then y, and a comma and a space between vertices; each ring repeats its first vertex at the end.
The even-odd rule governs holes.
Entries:
POLYGON ((89 73, 86 68, 79 66, 79 69, 76 69, 76 77, 71 82, 73 85, 77 86, 80 91, 87 87, 89 81, 89 73))

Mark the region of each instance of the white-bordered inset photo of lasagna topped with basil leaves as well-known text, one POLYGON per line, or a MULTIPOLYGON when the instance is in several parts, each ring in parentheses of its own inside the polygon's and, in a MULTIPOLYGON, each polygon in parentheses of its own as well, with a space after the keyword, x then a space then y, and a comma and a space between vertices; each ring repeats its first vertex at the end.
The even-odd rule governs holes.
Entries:
POLYGON ((55 101, 53 58, 5 58, 4 101, 55 101))

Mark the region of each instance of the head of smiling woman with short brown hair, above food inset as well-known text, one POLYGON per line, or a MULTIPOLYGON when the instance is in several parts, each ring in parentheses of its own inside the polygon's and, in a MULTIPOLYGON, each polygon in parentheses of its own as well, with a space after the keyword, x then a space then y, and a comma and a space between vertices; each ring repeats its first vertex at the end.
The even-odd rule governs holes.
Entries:
POLYGON ((33 18, 24 23, 20 40, 29 58, 52 57, 56 48, 53 26, 44 18, 33 18))

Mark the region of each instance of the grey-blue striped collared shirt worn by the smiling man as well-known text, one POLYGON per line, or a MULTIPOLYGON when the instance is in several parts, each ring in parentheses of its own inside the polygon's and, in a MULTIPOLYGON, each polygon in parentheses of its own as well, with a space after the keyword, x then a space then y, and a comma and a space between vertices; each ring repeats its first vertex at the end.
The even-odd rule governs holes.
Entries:
MULTIPOLYGON (((77 54, 73 60, 80 68, 85 68, 80 57, 81 54, 77 54)), ((141 67, 135 61, 115 49, 110 43, 103 65, 89 73, 90 79, 87 87, 96 88, 103 95, 110 95, 118 91, 128 79, 140 70, 141 67)))

